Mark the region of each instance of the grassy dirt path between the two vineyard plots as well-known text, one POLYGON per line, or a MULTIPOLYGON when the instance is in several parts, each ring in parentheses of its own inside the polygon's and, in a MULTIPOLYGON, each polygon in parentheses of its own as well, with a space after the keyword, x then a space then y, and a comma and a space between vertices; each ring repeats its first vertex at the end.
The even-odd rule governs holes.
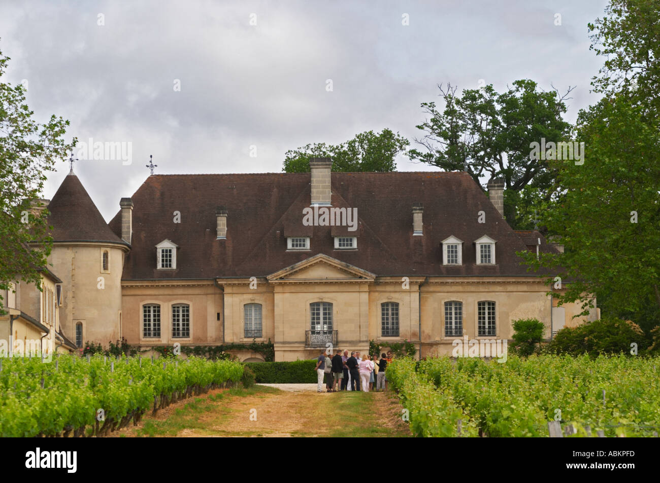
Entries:
POLYGON ((218 389, 180 401, 113 436, 397 437, 410 436, 410 431, 392 393, 257 386, 218 389))

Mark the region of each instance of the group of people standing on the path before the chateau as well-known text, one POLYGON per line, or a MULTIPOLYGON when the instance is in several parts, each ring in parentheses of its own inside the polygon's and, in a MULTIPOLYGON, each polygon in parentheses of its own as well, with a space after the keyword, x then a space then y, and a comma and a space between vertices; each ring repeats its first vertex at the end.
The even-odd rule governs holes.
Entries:
POLYGON ((348 351, 344 351, 342 355, 341 349, 339 349, 335 356, 330 357, 325 355, 325 350, 321 350, 321 354, 316 360, 318 378, 316 391, 323 392, 324 377, 325 390, 329 393, 360 391, 360 388, 364 392, 369 392, 374 389, 374 384, 376 384, 376 391, 386 391, 386 370, 389 362, 392 362, 391 351, 388 351, 387 354, 382 353, 380 359, 376 354, 371 358, 365 356, 363 359, 357 351, 353 351, 349 356, 348 351))

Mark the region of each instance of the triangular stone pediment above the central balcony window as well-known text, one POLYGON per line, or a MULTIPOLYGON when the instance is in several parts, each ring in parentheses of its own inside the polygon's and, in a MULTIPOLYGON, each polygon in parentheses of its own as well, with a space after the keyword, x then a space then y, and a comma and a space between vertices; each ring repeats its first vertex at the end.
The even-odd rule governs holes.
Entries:
POLYGON ((278 281, 373 281, 374 273, 319 253, 266 277, 278 281))

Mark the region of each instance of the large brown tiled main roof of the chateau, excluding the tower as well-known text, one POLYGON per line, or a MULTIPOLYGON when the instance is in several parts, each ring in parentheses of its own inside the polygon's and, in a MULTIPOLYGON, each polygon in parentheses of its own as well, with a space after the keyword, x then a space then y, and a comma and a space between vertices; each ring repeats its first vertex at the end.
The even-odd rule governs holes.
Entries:
MULTIPOLYGON (((259 277, 318 253, 377 275, 535 276, 515 254, 525 243, 467 173, 332 173, 333 206, 358 209, 356 232, 302 225, 309 173, 152 175, 132 200, 123 279, 259 277), (424 206, 423 236, 413 236, 416 202, 424 206), (228 210, 226 240, 216 240, 216 206, 228 210), (486 223, 478 223, 480 211, 486 223), (340 232, 357 236, 358 249, 335 250, 340 232), (311 236, 311 250, 287 252, 288 234, 311 236), (464 241, 462 266, 442 266, 440 241, 450 235, 464 241), (475 263, 473 242, 483 235, 496 241, 494 266, 475 263), (176 270, 156 270, 155 245, 164 239, 179 246, 176 270)), ((121 233, 121 212, 110 227, 121 233)))

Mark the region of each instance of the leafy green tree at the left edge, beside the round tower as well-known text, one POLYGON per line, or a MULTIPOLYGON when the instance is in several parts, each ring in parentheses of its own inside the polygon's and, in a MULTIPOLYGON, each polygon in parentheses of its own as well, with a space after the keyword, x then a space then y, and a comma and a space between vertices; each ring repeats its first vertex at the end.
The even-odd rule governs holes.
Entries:
MULTIPOLYGON (((0 52, 0 77, 8 61, 0 52)), ((0 82, 0 290, 11 281, 39 283, 51 246, 48 211, 31 208, 55 160, 75 146, 63 140, 69 121, 53 115, 42 124, 32 114, 24 88, 0 82)))

